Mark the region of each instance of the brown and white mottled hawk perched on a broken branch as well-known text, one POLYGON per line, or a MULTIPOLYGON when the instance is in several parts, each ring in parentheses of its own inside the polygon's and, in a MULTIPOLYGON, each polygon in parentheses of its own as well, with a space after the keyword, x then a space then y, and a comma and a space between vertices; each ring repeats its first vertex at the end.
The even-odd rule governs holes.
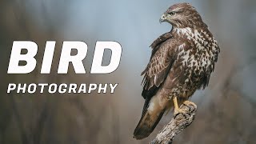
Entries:
POLYGON ((142 118, 134 130, 134 138, 150 135, 165 111, 174 107, 174 117, 185 113, 181 104, 198 89, 205 89, 220 52, 218 42, 189 3, 170 6, 159 20, 172 25, 150 47, 150 62, 142 72, 142 118))

